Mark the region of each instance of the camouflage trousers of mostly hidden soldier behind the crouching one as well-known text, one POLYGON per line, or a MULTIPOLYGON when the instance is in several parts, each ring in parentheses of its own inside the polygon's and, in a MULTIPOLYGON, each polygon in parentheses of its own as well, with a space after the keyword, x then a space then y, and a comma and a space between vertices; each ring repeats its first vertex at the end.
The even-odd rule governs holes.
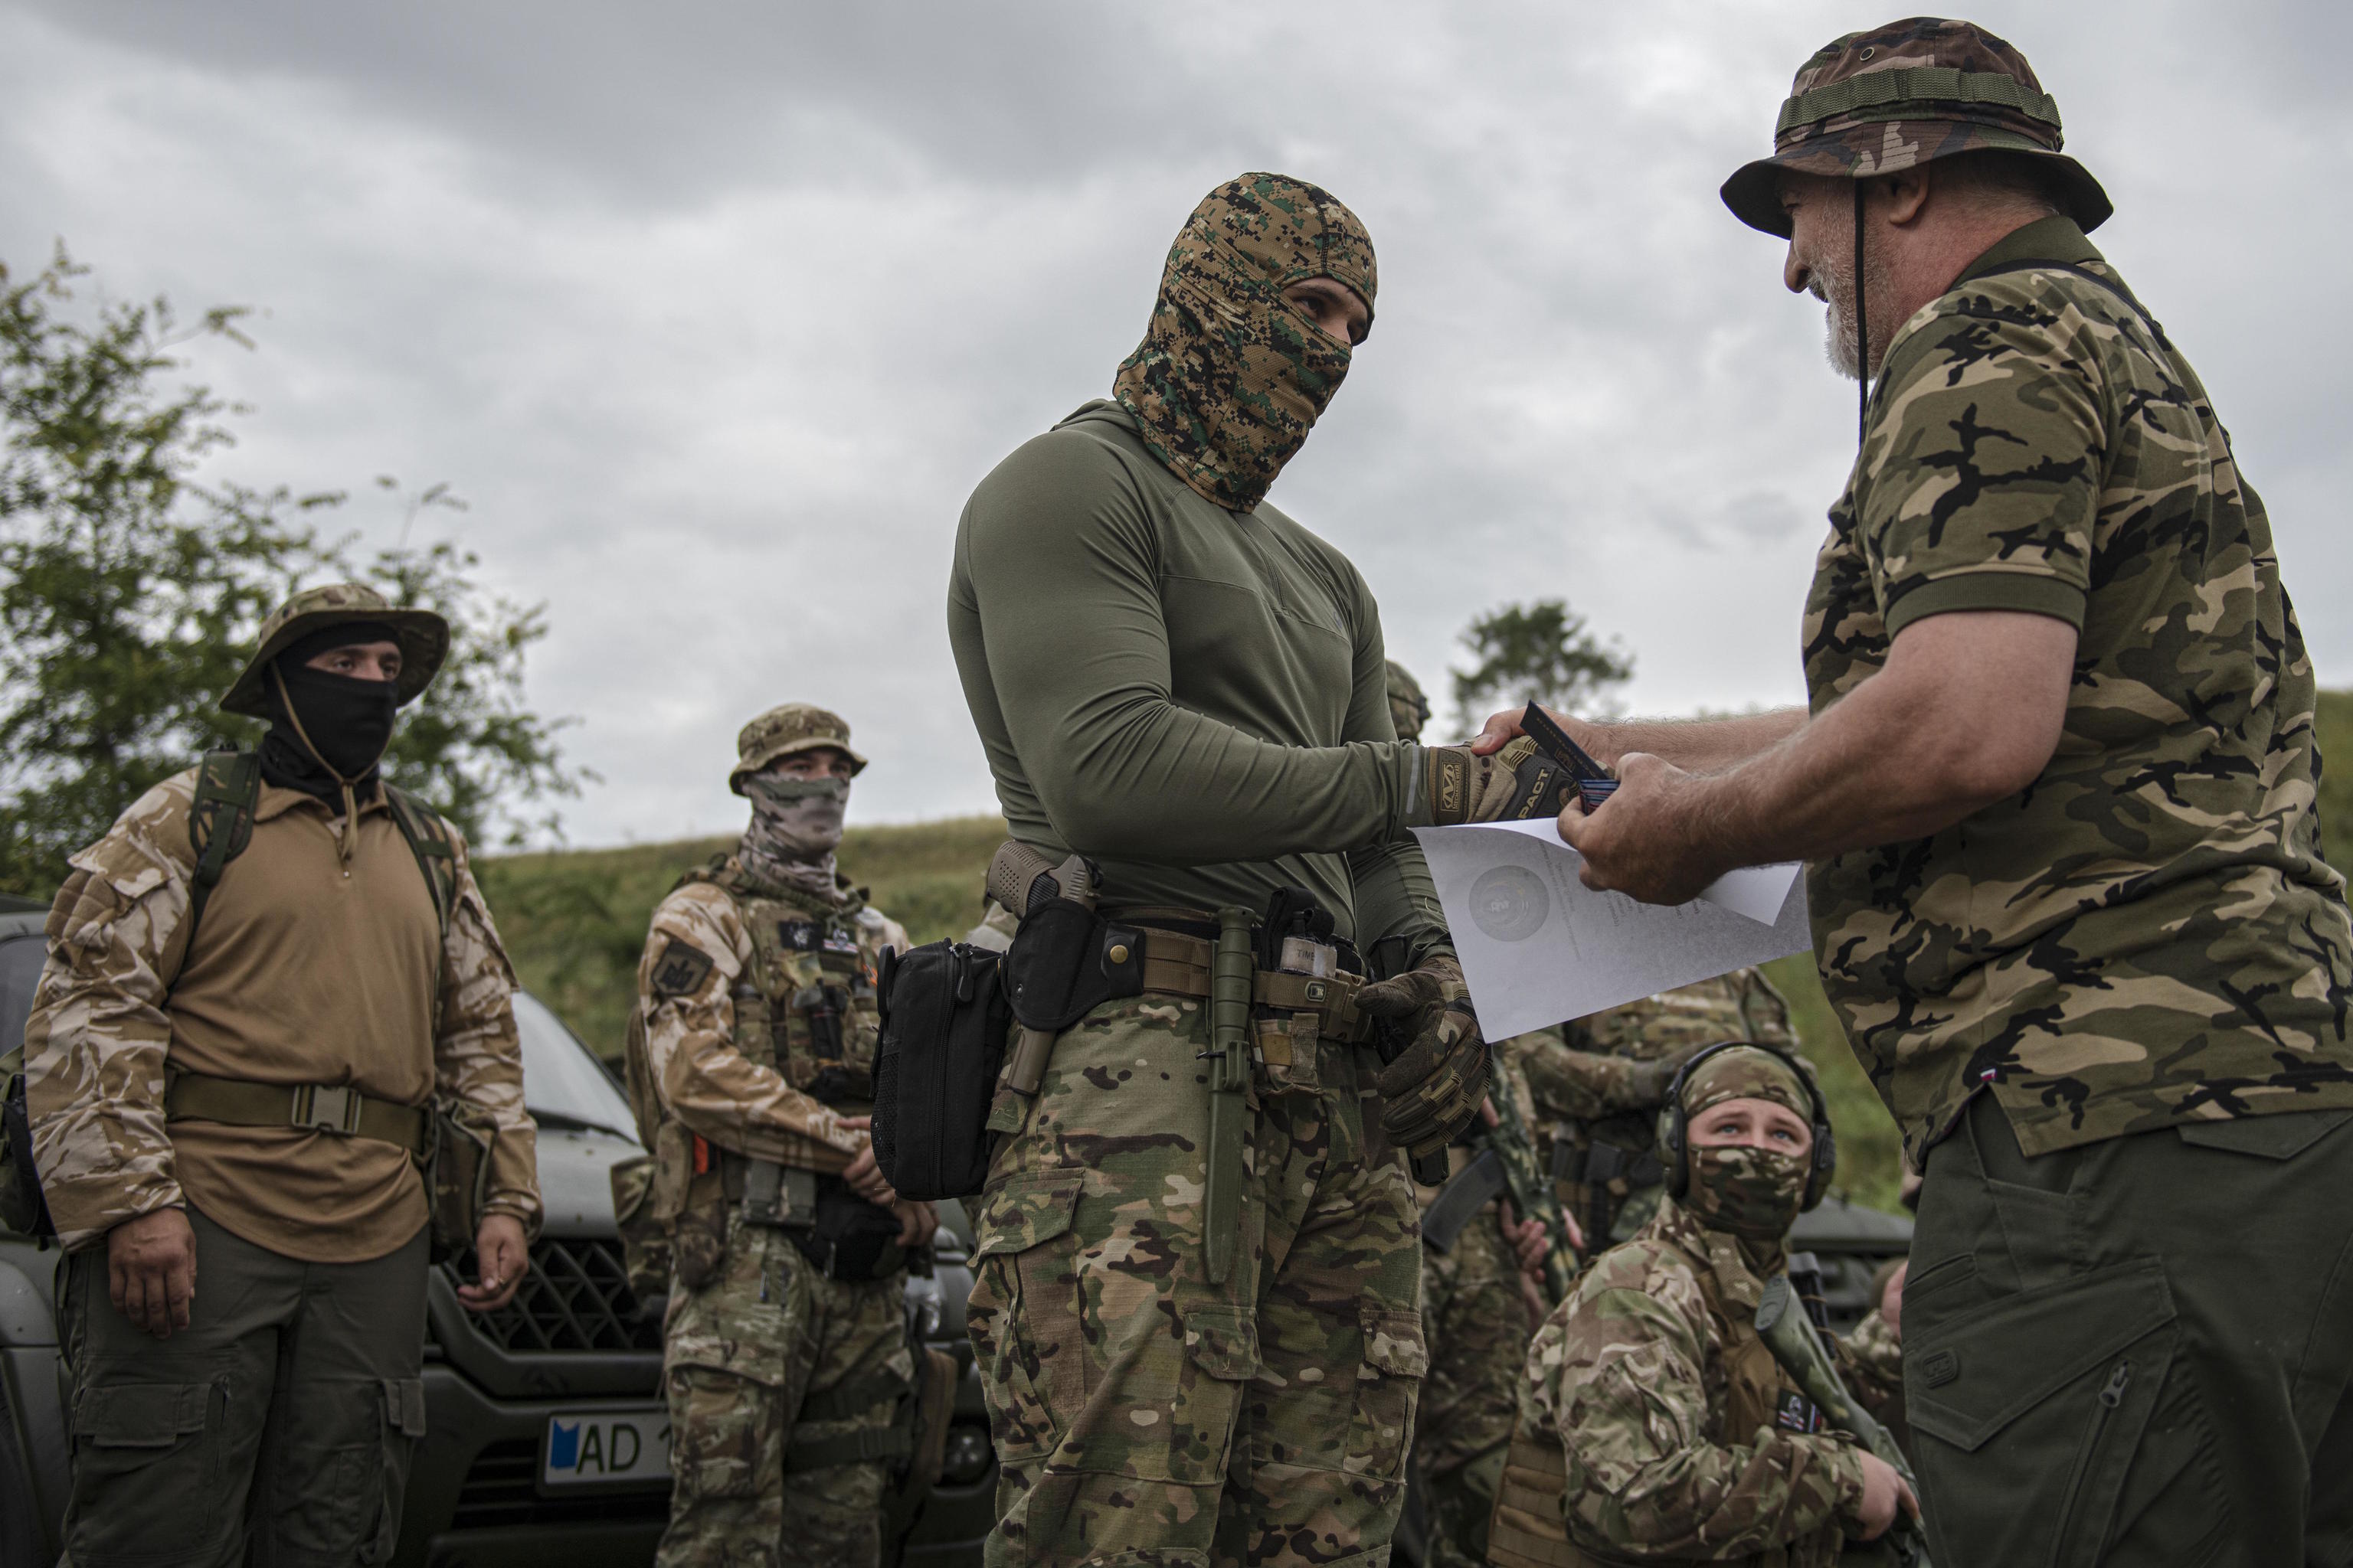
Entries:
POLYGON ((1534 1333, 1520 1265, 1494 1211, 1471 1220, 1454 1251, 1421 1255, 1421 1319, 1431 1345, 1414 1425, 1414 1469, 1428 1502, 1424 1568, 1473 1568, 1487 1561, 1487 1514, 1520 1418, 1534 1333))

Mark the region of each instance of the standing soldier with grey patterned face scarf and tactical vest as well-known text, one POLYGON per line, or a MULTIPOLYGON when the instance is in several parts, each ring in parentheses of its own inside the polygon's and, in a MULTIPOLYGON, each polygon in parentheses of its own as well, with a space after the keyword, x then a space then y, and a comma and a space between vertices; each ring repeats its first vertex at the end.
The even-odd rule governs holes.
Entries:
POLYGON ((908 1455, 906 1253, 936 1215, 866 1138, 875 971, 906 931, 833 865, 866 759, 824 708, 736 738, 741 844, 654 910, 628 1084, 671 1237, 659 1561, 871 1568, 908 1455))

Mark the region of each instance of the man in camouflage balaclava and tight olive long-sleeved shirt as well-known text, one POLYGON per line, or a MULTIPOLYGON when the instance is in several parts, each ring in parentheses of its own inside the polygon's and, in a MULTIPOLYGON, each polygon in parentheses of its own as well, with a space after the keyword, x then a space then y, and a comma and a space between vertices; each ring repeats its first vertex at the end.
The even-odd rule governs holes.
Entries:
POLYGON ((1221 186, 1113 397, 1005 458, 958 529, 948 639, 1007 825, 1089 858, 1104 929, 1136 933, 1104 961, 1141 959, 991 1119, 993 1563, 1379 1561, 1402 1502, 1426 1352, 1400 1145, 1440 1150, 1487 1079, 1405 835, 1522 785, 1398 741, 1372 592, 1266 501, 1372 301, 1372 240, 1329 193, 1221 186), (1240 971, 1247 1048, 1217 1053, 1247 1079, 1228 1164, 1212 954, 1221 912, 1278 898, 1240 971), (1374 1020, 1409 1041, 1386 1067, 1374 1020))

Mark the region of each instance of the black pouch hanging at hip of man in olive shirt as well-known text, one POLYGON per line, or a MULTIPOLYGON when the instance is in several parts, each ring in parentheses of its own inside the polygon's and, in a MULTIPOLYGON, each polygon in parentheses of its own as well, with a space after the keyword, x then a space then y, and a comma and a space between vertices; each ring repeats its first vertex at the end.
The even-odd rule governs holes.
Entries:
POLYGON ((882 959, 875 1166, 899 1197, 972 1197, 988 1180, 988 1100, 1012 1013, 1002 954, 925 943, 882 959))

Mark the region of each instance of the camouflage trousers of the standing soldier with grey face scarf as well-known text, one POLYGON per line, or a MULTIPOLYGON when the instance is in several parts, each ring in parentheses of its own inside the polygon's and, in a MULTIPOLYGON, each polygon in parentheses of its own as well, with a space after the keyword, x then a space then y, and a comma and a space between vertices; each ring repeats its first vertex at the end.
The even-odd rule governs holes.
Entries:
POLYGON ((880 1561, 885 1465, 840 1455, 878 1443, 913 1387, 904 1281, 826 1279, 784 1232, 729 1220, 720 1274, 673 1288, 664 1321, 673 1488, 656 1563, 880 1561))

